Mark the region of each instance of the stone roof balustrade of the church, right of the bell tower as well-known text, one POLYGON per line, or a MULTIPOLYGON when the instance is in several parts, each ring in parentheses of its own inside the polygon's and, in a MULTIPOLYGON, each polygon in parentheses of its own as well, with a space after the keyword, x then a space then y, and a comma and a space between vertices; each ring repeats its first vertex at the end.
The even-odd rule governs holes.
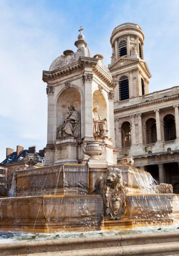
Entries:
POLYGON ((168 97, 171 95, 175 95, 179 93, 179 87, 175 86, 166 90, 162 90, 162 91, 157 91, 157 92, 153 92, 153 93, 149 93, 149 94, 145 94, 140 96, 141 100, 154 100, 154 99, 158 99, 158 98, 163 98, 163 97, 168 97))

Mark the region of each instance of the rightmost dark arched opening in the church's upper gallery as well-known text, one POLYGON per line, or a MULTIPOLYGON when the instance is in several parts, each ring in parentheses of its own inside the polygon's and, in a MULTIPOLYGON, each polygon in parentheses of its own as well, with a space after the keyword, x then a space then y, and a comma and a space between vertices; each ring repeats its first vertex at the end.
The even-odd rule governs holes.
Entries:
POLYGON ((176 127, 174 116, 169 114, 164 117, 164 140, 176 139, 176 127))

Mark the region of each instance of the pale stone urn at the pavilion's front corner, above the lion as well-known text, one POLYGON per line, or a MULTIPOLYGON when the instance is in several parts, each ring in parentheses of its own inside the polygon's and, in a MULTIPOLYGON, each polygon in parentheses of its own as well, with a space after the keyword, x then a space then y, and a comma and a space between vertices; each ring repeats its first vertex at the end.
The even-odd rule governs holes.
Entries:
POLYGON ((82 151, 85 155, 91 157, 91 159, 99 159, 99 155, 102 155, 105 150, 105 145, 99 142, 89 142, 82 146, 82 151))

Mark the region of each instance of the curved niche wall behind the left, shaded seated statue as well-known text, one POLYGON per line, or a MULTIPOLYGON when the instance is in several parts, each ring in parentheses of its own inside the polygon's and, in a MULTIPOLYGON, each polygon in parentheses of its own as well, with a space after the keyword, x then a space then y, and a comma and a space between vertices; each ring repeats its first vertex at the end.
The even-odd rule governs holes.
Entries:
POLYGON ((81 97, 80 92, 74 88, 70 87, 65 89, 57 99, 57 108, 56 108, 56 118, 57 126, 63 124, 64 116, 69 112, 68 105, 73 104, 75 110, 81 116, 81 97))

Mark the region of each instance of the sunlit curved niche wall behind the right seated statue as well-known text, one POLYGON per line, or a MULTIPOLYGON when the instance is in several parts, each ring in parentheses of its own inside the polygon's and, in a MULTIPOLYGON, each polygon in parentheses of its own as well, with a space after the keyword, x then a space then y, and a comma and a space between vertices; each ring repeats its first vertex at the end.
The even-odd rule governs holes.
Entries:
MULTIPOLYGON (((106 101, 105 101, 104 96, 102 95, 102 93, 99 90, 96 90, 93 93, 93 108, 95 105, 99 106, 98 115, 101 117, 101 119, 103 119, 103 118, 108 119, 106 101)), ((107 120, 107 122, 108 122, 108 120, 107 120)), ((106 129, 108 127, 107 122, 105 122, 106 129)))

